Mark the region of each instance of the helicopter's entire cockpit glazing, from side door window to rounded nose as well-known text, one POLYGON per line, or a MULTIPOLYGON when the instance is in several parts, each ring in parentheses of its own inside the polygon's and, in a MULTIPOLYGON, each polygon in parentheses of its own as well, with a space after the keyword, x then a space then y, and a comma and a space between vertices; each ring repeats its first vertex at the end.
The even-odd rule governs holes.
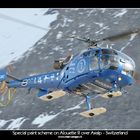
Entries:
POLYGON ((90 70, 122 68, 122 74, 134 76, 135 62, 126 54, 114 49, 103 48, 90 54, 90 70))

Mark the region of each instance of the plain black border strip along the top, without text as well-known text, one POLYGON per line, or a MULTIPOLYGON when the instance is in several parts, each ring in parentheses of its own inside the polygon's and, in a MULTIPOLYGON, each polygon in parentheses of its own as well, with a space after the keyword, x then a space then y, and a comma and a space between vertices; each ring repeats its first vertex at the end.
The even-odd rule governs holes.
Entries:
POLYGON ((1 0, 1 8, 139 8, 139 0, 1 0))

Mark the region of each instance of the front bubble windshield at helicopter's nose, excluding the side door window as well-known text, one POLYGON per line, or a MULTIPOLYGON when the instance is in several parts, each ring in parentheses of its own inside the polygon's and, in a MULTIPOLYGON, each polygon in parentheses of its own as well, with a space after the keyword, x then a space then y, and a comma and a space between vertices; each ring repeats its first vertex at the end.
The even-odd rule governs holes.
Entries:
POLYGON ((127 55, 116 50, 103 49, 101 53, 100 66, 104 69, 117 70, 122 66, 122 73, 125 75, 134 75, 135 63, 127 55))

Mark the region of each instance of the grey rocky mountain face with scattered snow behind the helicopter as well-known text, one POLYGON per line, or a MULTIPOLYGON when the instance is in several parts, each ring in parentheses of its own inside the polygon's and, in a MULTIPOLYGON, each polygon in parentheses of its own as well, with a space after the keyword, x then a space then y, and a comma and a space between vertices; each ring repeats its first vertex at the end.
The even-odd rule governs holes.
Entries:
MULTIPOLYGON (((53 61, 66 57, 69 51, 78 53, 86 43, 66 38, 100 39, 140 26, 140 9, 49 9, 45 15, 58 13, 51 29, 27 51, 21 59, 13 61, 12 75, 24 77, 53 70, 53 61)), ((112 47, 129 55, 140 71, 140 35, 115 42, 101 42, 101 47, 112 47)), ((37 98, 36 90, 17 89, 13 102, 0 108, 0 129, 140 129, 140 83, 126 88, 127 94, 112 99, 94 100, 94 107, 105 107, 107 112, 94 118, 79 115, 86 109, 83 98, 66 95, 45 102, 37 98)), ((96 96, 96 95, 95 95, 96 96)))

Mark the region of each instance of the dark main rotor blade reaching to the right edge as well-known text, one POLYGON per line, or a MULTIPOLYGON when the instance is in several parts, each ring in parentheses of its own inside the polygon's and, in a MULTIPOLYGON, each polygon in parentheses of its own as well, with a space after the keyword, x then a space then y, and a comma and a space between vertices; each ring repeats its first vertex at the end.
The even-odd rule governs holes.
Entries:
POLYGON ((135 29, 135 30, 126 31, 126 32, 123 32, 123 33, 120 33, 120 34, 117 34, 117 35, 113 35, 113 36, 109 36, 109 37, 97 40, 95 42, 97 43, 97 42, 106 41, 106 40, 115 41, 115 40, 118 40, 118 39, 126 38, 129 35, 135 34, 135 33, 140 33, 140 29, 138 28, 138 29, 135 29))

